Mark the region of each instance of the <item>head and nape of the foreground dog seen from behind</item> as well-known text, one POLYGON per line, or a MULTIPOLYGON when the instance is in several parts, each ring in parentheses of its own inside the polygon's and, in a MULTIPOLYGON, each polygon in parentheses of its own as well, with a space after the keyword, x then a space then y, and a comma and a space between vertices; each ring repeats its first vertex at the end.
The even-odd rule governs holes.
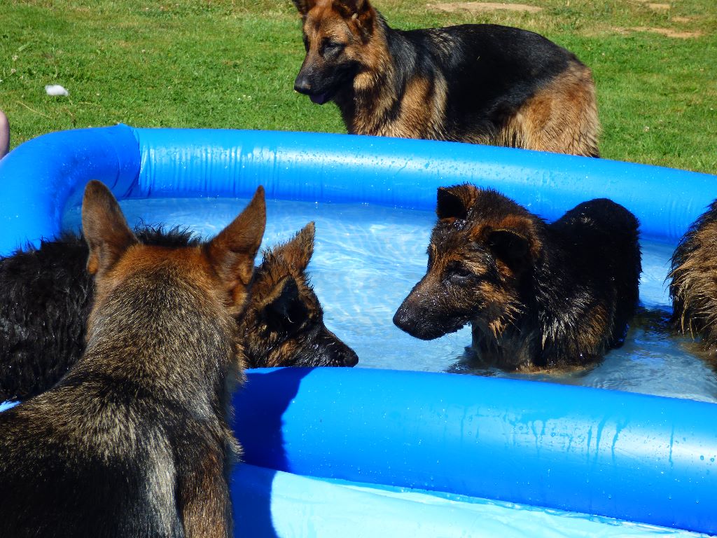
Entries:
MULTIPOLYGON (((172 364, 183 362, 186 379, 197 371, 197 362, 234 370, 235 319, 247 304, 265 215, 259 187, 246 209, 209 242, 144 245, 109 189, 90 181, 82 202, 87 273, 95 278, 87 352, 101 349, 118 368, 153 372, 170 371, 171 357, 172 364), (151 360, 130 364, 125 357, 133 354, 151 360)), ((207 374, 205 381, 211 383, 212 376, 207 374)))

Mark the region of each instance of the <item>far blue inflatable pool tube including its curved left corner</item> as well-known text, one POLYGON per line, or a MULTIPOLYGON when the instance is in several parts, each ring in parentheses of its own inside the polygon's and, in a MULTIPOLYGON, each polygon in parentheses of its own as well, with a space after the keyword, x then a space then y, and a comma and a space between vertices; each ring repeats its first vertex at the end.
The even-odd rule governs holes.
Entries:
POLYGON ((40 136, 0 161, 0 254, 53 237, 90 179, 123 197, 267 196, 435 207, 436 189, 496 187, 549 220, 610 197, 642 232, 677 240, 717 194, 710 174, 473 144, 324 133, 139 129, 40 136), (32 178, 32 181, 27 181, 32 178))

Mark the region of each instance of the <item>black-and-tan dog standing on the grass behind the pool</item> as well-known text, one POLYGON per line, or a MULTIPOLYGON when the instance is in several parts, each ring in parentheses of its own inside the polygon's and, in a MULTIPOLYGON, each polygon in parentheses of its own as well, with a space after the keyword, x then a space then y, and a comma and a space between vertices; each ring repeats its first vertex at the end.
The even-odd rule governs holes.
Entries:
POLYGON ((293 0, 306 57, 294 89, 333 100, 351 134, 599 156, 595 85, 573 53, 526 30, 392 29, 368 0, 293 0))

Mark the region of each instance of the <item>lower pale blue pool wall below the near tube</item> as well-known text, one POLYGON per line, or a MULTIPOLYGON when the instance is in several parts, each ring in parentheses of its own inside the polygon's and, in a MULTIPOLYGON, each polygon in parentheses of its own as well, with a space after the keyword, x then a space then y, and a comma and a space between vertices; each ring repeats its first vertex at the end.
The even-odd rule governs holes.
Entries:
POLYGON ((244 463, 237 536, 252 538, 698 538, 682 530, 521 504, 326 481, 244 463))

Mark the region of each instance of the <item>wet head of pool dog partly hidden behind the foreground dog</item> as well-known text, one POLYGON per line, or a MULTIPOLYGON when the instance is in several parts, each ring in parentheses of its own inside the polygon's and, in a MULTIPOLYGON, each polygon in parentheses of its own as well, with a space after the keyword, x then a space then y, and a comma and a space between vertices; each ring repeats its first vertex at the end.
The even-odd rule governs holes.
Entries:
POLYGON ((313 253, 310 222, 290 241, 264 253, 244 317, 252 367, 354 366, 356 353, 323 324, 323 310, 306 275, 313 253))

